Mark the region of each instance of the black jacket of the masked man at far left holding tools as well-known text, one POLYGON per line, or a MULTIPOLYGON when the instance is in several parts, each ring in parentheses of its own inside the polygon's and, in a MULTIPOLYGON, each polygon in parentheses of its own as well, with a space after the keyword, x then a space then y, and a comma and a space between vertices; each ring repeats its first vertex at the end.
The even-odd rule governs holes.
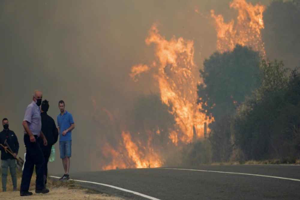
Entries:
MULTIPOLYGON (((13 153, 18 154, 19 152, 19 142, 16 134, 12 130, 3 130, 0 132, 0 143, 3 146, 6 146, 4 142, 7 142, 13 153)), ((9 149, 9 148, 7 148, 9 149)), ((4 151, 4 148, 0 145, 1 150, 1 160, 7 160, 7 159, 15 159, 10 153, 6 153, 4 151)))

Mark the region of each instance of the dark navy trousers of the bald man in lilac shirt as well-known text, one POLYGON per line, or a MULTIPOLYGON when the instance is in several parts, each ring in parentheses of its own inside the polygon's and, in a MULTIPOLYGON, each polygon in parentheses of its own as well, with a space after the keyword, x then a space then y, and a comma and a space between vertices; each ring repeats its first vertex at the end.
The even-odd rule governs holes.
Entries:
POLYGON ((35 189, 44 188, 44 155, 40 146, 40 138, 35 136, 36 142, 30 142, 29 135, 24 135, 24 144, 26 146, 26 161, 24 164, 20 191, 28 191, 35 166, 36 181, 35 189))

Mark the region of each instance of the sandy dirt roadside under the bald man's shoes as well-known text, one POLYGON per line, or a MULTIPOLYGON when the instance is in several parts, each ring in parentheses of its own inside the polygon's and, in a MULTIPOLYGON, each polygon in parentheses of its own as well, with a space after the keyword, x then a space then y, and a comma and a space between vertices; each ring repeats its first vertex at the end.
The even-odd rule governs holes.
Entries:
POLYGON ((53 200, 71 200, 71 199, 90 199, 90 200, 124 200, 120 197, 109 196, 106 194, 95 194, 86 189, 69 189, 67 187, 58 187, 50 189, 48 194, 36 194, 31 191, 32 196, 20 196, 20 192, 0 192, 0 199, 53 199, 53 200))

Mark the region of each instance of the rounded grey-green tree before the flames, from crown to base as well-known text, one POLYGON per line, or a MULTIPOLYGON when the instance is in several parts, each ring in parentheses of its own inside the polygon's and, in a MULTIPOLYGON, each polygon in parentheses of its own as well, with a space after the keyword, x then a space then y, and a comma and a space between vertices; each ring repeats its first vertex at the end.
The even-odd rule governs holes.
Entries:
POLYGON ((260 85, 259 53, 236 45, 230 52, 215 52, 204 61, 200 70, 203 83, 198 85, 201 112, 214 117, 211 130, 212 160, 228 161, 232 153, 231 121, 235 109, 245 96, 260 85))

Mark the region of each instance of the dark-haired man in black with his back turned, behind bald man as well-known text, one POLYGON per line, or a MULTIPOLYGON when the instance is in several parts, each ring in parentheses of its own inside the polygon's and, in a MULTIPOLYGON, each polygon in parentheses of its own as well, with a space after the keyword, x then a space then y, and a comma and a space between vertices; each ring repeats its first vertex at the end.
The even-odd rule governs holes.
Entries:
POLYGON ((48 161, 51 154, 52 145, 57 142, 58 139, 58 130, 56 128, 55 122, 47 115, 47 111, 49 109, 49 101, 44 100, 41 105, 41 118, 42 118, 42 132, 48 141, 47 146, 42 147, 42 151, 45 157, 45 166, 44 166, 44 184, 46 187, 47 183, 47 174, 48 174, 48 161))

